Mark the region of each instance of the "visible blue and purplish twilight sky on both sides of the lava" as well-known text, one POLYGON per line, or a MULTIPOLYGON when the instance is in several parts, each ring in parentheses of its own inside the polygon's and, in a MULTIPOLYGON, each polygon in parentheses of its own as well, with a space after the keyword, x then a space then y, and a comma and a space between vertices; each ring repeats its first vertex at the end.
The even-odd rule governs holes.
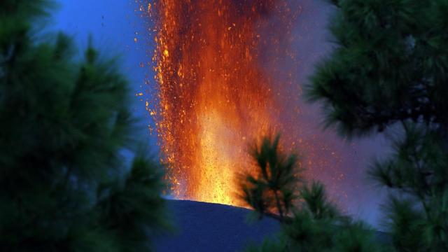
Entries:
MULTIPOLYGON (((181 1, 181 0, 179 0, 181 1)), ((300 0, 303 2, 302 15, 297 25, 297 48, 300 64, 297 68, 297 76, 300 83, 306 83, 307 76, 311 73, 314 63, 331 48, 327 43, 328 34, 325 24, 331 8, 325 1, 300 0)), ((120 55, 122 70, 127 74, 134 94, 144 92, 144 97, 135 97, 133 109, 136 116, 141 118, 141 138, 147 139, 150 146, 156 150, 157 139, 150 136, 147 125, 151 118, 144 109, 144 100, 150 99, 153 82, 153 72, 147 66, 151 62, 153 53, 153 41, 146 32, 148 25, 139 18, 139 11, 134 0, 59 0, 59 10, 54 14, 52 27, 62 30, 66 34, 76 37, 78 48, 85 48, 87 38, 91 34, 94 45, 110 55, 120 55), (137 38, 137 42, 135 41, 137 38), (151 82, 145 84, 146 76, 151 82)), ((317 106, 301 104, 304 111, 302 120, 316 121, 321 119, 317 106)), ((325 140, 332 148, 342 149, 347 154, 342 158, 342 172, 344 181, 340 186, 345 191, 346 210, 356 217, 378 227, 379 199, 384 191, 374 188, 365 179, 365 167, 370 158, 386 153, 386 141, 383 137, 363 139, 344 144, 339 137, 332 132, 322 133, 318 129, 318 123, 308 124, 309 129, 304 129, 308 134, 325 134, 325 140)))

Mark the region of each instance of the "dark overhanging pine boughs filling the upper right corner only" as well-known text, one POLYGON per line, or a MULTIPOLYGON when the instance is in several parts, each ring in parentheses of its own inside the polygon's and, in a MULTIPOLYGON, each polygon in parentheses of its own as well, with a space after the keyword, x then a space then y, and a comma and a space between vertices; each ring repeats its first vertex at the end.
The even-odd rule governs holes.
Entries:
POLYGON ((339 0, 332 55, 308 87, 343 134, 401 120, 448 123, 448 2, 339 0))

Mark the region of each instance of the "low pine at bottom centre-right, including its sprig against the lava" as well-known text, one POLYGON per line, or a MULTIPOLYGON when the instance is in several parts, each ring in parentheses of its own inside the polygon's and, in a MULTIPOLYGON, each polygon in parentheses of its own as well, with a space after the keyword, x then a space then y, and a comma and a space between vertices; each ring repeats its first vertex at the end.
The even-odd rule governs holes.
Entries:
POLYGON ((297 155, 281 151, 279 135, 253 144, 251 155, 257 175, 240 176, 241 199, 260 216, 279 220, 282 231, 248 251, 379 251, 370 228, 340 214, 321 183, 303 183, 297 155))

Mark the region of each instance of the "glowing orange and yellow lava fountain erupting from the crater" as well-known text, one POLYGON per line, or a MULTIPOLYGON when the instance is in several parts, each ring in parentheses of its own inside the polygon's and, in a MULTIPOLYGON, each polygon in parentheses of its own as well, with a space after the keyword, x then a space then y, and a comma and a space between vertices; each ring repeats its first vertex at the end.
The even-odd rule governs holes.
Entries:
POLYGON ((283 127, 288 73, 275 69, 294 57, 288 43, 300 8, 283 0, 159 0, 149 8, 158 82, 150 112, 172 193, 238 205, 234 177, 251 169, 248 141, 283 127))

